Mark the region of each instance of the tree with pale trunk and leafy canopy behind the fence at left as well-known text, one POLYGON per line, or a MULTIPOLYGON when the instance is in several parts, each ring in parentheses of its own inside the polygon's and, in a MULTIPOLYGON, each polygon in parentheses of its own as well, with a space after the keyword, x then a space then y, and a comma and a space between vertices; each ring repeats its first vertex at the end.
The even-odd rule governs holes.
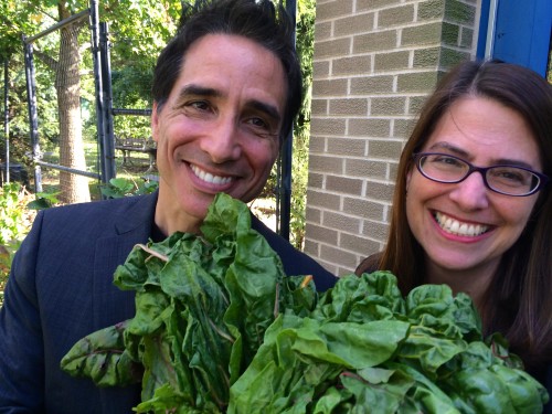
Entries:
MULTIPOLYGON (((2 2, 0 19, 2 25, 10 28, 0 35, 0 50, 4 54, 22 53, 21 35, 36 34, 70 15, 85 10, 88 4, 82 0, 29 0, 24 4, 8 0, 2 2)), ((115 49, 115 62, 125 60, 152 65, 160 47, 172 34, 174 22, 178 22, 180 2, 166 0, 140 0, 119 3, 116 0, 102 3, 100 18, 112 20, 119 39, 115 49), (149 30, 145 30, 149 29, 149 30)), ((86 21, 84 22, 86 23, 86 21)), ((89 33, 83 22, 74 22, 60 30, 59 42, 47 44, 44 50, 36 47, 35 56, 55 74, 54 86, 57 95, 60 163, 75 169, 85 169, 83 149, 83 123, 81 118, 81 76, 83 54, 81 45, 83 36, 89 33), (84 32, 84 33, 83 33, 84 32), (55 54, 56 53, 56 54, 55 54)), ((89 45, 89 43, 88 43, 89 45)), ((87 180, 62 171, 60 173, 60 200, 66 203, 89 200, 87 180)))

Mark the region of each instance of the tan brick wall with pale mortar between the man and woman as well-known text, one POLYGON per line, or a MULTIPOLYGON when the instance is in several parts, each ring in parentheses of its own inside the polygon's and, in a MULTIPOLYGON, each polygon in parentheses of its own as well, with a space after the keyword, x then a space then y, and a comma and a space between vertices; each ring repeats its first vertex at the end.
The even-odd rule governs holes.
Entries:
POLYGON ((480 1, 317 0, 305 252, 336 275, 386 240, 397 160, 480 1))

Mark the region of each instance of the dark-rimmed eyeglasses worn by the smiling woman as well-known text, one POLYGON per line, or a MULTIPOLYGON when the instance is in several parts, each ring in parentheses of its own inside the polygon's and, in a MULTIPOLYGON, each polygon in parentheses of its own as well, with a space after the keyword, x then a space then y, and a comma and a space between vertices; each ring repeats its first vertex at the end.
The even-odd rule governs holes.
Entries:
POLYGON ((480 172, 485 185, 506 195, 524 197, 541 190, 549 178, 540 172, 517 166, 476 167, 461 158, 439 152, 413 155, 416 168, 425 178, 444 183, 457 183, 473 172, 480 172))

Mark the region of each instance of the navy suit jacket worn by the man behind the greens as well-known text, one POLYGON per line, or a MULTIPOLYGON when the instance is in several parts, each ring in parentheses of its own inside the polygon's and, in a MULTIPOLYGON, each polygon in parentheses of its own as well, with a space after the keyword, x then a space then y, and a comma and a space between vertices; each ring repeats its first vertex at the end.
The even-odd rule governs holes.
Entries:
MULTIPOLYGON (((60 361, 84 336, 135 315, 134 291, 113 285, 116 267, 147 243, 157 193, 49 209, 18 251, 0 309, 0 413, 131 413, 140 386, 99 389, 60 361)), ((336 277, 255 217, 288 275, 336 277)))

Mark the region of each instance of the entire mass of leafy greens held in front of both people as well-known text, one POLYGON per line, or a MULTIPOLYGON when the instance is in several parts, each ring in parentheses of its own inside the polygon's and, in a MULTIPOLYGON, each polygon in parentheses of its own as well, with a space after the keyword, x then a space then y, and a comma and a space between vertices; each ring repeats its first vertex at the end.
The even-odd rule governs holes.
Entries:
POLYGON ((136 316, 78 341, 62 368, 96 384, 141 382, 137 412, 539 413, 545 390, 466 295, 424 285, 406 298, 385 272, 318 296, 287 277, 219 194, 202 236, 137 246, 115 273, 136 316))

